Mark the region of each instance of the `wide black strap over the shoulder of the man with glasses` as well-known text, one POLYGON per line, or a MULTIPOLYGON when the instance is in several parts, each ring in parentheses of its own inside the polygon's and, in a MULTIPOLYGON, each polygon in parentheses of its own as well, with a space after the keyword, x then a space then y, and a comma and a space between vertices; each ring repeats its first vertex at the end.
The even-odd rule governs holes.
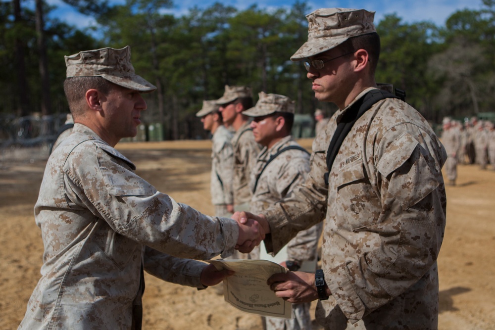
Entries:
POLYGON ((330 171, 332 170, 332 165, 334 163, 335 157, 339 152, 339 149, 346 139, 347 134, 349 134, 350 129, 354 123, 361 117, 366 111, 368 111, 373 104, 384 99, 384 98, 400 98, 404 100, 405 92, 396 90, 396 96, 390 92, 384 90, 371 90, 366 93, 363 97, 358 99, 354 104, 351 105, 350 109, 347 109, 346 113, 342 117, 340 123, 337 125, 337 129, 332 137, 332 141, 328 145, 327 150, 327 168, 328 172, 325 173, 325 184, 328 186, 328 177, 330 171))

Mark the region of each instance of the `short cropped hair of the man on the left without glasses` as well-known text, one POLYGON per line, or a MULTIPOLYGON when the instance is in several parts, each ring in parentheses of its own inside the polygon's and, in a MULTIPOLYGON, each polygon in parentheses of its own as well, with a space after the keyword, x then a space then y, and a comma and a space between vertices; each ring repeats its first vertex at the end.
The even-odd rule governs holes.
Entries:
POLYGON ((63 90, 74 118, 84 115, 86 91, 95 89, 108 94, 114 84, 102 77, 70 77, 65 79, 63 90))

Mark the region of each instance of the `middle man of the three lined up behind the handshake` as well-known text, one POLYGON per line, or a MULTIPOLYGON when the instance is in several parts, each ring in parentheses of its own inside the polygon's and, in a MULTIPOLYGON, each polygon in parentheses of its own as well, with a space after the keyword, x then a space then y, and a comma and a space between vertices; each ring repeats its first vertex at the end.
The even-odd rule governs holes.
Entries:
MULTIPOLYGON (((243 111, 252 107, 252 92, 246 86, 225 86, 225 92, 217 101, 224 123, 235 130, 232 138, 234 148, 234 211, 249 211, 251 192, 249 178, 256 164, 256 156, 261 147, 252 135, 249 118, 243 111)), ((250 253, 235 252, 230 259, 259 259, 259 248, 250 253)))

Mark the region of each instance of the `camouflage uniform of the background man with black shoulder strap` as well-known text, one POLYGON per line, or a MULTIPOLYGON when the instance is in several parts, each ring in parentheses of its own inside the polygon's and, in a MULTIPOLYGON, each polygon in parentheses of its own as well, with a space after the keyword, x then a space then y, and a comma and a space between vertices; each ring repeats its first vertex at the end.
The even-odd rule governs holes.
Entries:
MULTIPOLYGON (((271 156, 288 146, 300 147, 292 136, 287 136, 270 148, 264 147, 258 154, 249 182, 253 194, 250 207, 254 214, 263 213, 306 179, 309 173, 309 154, 298 149, 283 151, 263 170, 271 156), (258 178, 257 184, 256 178, 258 178), (255 185, 256 189, 254 189, 255 185)), ((301 262, 317 258, 318 238, 321 235, 322 225, 319 223, 301 231, 291 239, 287 247, 289 260, 301 262)), ((295 318, 291 320, 266 318, 266 329, 311 329, 310 305, 311 303, 293 304, 295 318)))

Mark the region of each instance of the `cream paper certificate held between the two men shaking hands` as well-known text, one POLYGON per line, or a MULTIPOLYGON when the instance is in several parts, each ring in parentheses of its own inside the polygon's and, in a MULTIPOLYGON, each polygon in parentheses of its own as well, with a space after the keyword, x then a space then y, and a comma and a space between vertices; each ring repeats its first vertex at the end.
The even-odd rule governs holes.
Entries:
POLYGON ((236 272, 223 280, 225 301, 237 309, 261 316, 292 319, 292 304, 279 298, 266 281, 288 270, 268 260, 208 260, 218 270, 236 272))

